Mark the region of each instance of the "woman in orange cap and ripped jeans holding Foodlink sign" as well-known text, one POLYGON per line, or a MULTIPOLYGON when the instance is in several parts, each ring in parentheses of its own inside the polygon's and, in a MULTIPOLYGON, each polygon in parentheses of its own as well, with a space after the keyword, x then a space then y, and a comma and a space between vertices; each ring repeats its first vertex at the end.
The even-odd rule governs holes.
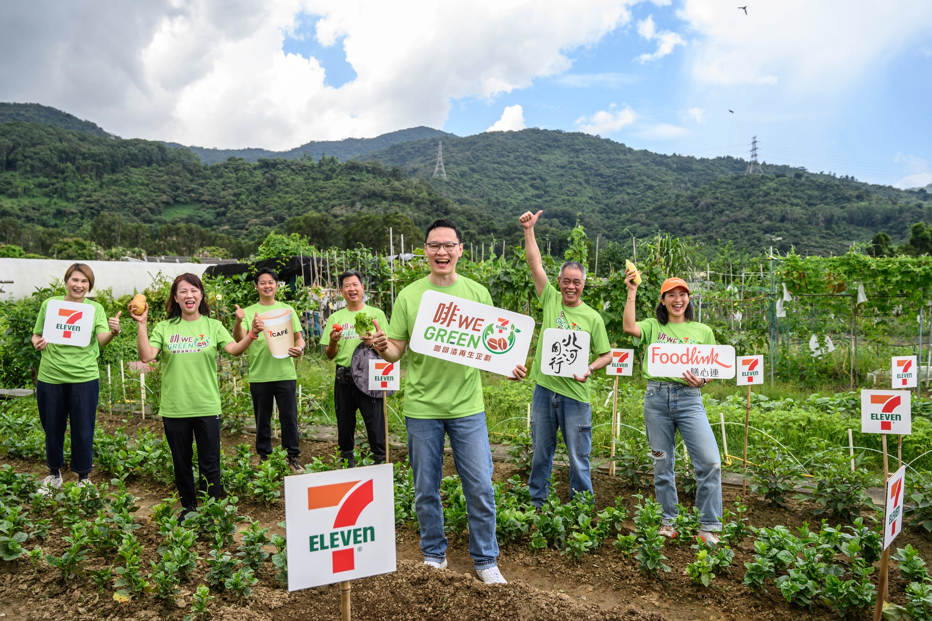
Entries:
MULTIPOLYGON (((635 321, 635 276, 635 270, 625 270, 628 297, 623 324, 624 331, 634 337, 635 344, 715 344, 712 329, 693 320, 690 287, 682 278, 664 281, 655 317, 635 321)), ((706 385, 706 379, 689 371, 682 377, 651 377, 646 361, 641 372, 648 381, 644 393, 644 425, 653 457, 653 489, 657 501, 664 506, 660 533, 667 537, 676 534, 673 520, 678 514, 678 499, 673 465, 679 429, 696 471, 695 506, 701 512, 699 537, 715 546, 721 530, 721 464, 719 444, 702 404, 700 389, 706 385)))

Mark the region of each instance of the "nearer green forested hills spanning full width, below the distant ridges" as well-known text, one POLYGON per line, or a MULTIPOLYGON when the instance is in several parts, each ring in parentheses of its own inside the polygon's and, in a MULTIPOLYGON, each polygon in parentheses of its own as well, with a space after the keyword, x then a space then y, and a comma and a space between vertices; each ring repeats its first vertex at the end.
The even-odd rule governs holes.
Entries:
POLYGON ((103 248, 185 254, 219 246, 242 256, 280 231, 319 247, 381 249, 390 226, 410 245, 418 227, 450 215, 469 244, 516 245, 517 215, 544 209, 539 236, 555 252, 579 220, 603 244, 663 231, 753 254, 771 245, 828 254, 879 231, 902 243, 912 223, 932 223, 925 191, 802 169, 765 165, 766 174, 747 176, 741 159, 658 155, 541 129, 443 140, 446 180, 430 179, 436 138, 362 161, 233 158, 207 166, 162 142, 0 123, 0 243, 57 254, 63 238, 79 236, 103 248))

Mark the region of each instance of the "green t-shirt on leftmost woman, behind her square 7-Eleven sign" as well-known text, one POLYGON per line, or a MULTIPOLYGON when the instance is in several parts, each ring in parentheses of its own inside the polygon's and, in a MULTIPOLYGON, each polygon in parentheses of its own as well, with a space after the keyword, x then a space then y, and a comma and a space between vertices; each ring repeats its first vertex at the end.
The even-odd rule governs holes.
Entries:
MULTIPOLYGON (((64 296, 55 295, 42 303, 39 307, 39 315, 35 317, 34 334, 41 335, 46 325, 46 307, 49 300, 64 300, 64 296)), ((90 336, 90 343, 84 347, 47 344, 42 351, 42 359, 39 361, 37 377, 40 382, 78 384, 96 380, 101 376, 101 371, 97 367, 97 358, 101 356, 101 346, 97 344, 97 335, 110 331, 110 326, 107 325, 107 314, 103 306, 93 300, 85 298, 82 304, 90 304, 94 309, 94 329, 90 336)))

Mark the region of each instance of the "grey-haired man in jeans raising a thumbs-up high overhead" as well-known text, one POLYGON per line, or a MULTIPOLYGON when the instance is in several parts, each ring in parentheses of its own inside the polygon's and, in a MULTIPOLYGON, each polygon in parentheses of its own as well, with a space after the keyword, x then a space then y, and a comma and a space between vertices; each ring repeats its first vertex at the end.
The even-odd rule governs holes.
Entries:
MULTIPOLYGON (((534 459, 531 462, 528 488, 534 506, 541 506, 550 492, 550 478, 554 472, 556 430, 563 433, 569 454, 569 496, 577 492, 592 493, 589 470, 589 452, 592 451, 592 407, 589 405, 589 385, 586 380, 593 371, 604 368, 611 361, 609 334, 602 317, 582 300, 585 287, 585 266, 568 261, 560 266, 557 283, 559 292, 547 280, 543 271, 541 250, 534 237, 534 224, 543 211, 525 212, 519 218, 525 230, 525 248, 530 274, 538 302, 543 307, 541 334, 547 328, 589 332, 589 347, 597 358, 583 375, 572 378, 544 375, 541 372, 543 351, 539 345, 531 367, 531 378, 537 382, 531 400, 531 435, 534 459)), ((580 356, 589 358, 589 352, 580 356)))

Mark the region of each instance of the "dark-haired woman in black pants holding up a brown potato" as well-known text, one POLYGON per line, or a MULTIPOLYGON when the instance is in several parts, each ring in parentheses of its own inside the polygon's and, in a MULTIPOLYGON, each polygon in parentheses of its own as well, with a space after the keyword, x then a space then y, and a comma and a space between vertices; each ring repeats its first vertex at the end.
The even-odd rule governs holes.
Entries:
POLYGON ((150 362, 162 353, 162 392, 158 413, 171 448, 175 486, 185 511, 198 508, 191 474, 194 454, 192 439, 198 442, 199 489, 220 498, 220 386, 217 385, 217 351, 240 356, 262 331, 262 320, 246 332, 239 343, 233 341, 224 325, 211 318, 204 299, 204 285, 194 274, 182 274, 171 284, 165 302, 168 319, 146 332, 149 305, 142 315, 130 317, 139 324, 136 345, 139 359, 150 362))

